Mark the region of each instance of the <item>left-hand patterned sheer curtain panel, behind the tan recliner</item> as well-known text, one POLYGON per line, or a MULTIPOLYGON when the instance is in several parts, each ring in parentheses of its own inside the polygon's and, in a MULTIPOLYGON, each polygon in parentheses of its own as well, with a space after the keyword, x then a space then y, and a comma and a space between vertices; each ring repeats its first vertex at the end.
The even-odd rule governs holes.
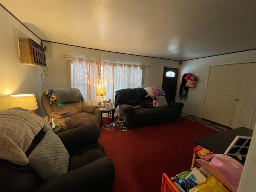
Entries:
POLYGON ((100 61, 73 59, 73 87, 78 88, 89 105, 97 104, 96 88, 100 84, 100 61))

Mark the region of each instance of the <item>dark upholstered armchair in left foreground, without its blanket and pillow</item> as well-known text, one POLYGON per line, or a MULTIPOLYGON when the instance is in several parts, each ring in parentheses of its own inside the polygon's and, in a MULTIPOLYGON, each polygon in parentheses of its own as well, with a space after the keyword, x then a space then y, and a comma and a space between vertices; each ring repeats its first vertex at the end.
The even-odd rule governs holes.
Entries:
MULTIPOLYGON (((1 121, 2 130, 6 127, 1 121)), ((34 144, 26 151, 29 158, 36 146, 46 137, 43 129, 34 138, 34 144), (34 149, 33 149, 34 148, 34 149)), ((54 134, 50 132, 50 134, 54 134)), ((56 137, 54 134, 53 136, 56 137)), ((28 166, 18 166, 2 159, 0 169, 1 192, 110 192, 112 191, 115 170, 113 162, 104 154, 98 142, 100 130, 97 124, 89 124, 58 133, 57 136, 69 154, 68 171, 47 179, 42 179, 28 166)), ((22 139, 22 138, 21 138, 22 139)), ((2 143, 1 143, 2 144, 2 143)), ((54 146, 55 143, 48 143, 54 146)), ((3 149, 1 146, 1 150, 3 149)), ((2 153, 1 153, 2 155, 2 153)), ((39 156, 39 158, 44 158, 39 156)), ((29 164, 30 165, 30 162, 29 164)), ((58 166, 54 164, 54 166, 58 166)), ((43 169, 48 169, 44 167, 43 169)))

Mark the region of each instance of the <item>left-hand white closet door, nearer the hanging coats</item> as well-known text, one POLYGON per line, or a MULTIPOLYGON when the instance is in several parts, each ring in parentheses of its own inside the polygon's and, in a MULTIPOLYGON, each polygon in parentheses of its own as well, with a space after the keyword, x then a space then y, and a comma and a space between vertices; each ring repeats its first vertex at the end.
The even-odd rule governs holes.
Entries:
POLYGON ((211 66, 202 118, 231 127, 244 64, 211 66))

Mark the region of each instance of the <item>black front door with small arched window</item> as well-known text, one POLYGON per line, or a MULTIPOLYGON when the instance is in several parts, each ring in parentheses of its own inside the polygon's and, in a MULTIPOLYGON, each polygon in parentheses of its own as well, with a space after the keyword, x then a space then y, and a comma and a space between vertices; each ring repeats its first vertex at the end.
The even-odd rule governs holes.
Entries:
POLYGON ((164 67, 163 78, 162 78, 162 90, 166 93, 167 99, 174 102, 177 90, 177 80, 178 80, 177 68, 164 67))

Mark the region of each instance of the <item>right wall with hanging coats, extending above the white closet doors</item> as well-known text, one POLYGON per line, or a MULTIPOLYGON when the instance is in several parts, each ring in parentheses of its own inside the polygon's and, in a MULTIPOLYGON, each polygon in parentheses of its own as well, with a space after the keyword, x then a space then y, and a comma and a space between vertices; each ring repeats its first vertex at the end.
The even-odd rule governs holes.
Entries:
POLYGON ((189 88, 188 99, 186 101, 180 100, 177 93, 176 102, 184 103, 184 108, 182 110, 184 113, 196 116, 198 118, 202 118, 210 66, 246 62, 256 62, 256 50, 182 62, 182 65, 180 65, 180 78, 178 82, 178 89, 182 81, 182 75, 185 73, 196 74, 198 81, 195 84, 195 88, 189 88))

